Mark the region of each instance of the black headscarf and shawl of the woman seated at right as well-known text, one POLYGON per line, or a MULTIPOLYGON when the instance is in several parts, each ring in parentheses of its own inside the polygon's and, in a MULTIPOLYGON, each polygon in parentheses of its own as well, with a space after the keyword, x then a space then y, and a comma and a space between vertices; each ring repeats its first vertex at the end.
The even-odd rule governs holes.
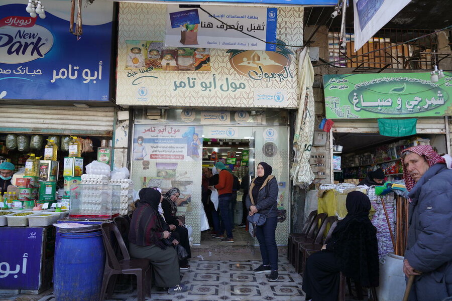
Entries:
POLYGON ((347 195, 347 215, 337 223, 326 249, 334 252, 341 271, 363 286, 378 286, 377 230, 369 219, 371 203, 360 191, 347 195))

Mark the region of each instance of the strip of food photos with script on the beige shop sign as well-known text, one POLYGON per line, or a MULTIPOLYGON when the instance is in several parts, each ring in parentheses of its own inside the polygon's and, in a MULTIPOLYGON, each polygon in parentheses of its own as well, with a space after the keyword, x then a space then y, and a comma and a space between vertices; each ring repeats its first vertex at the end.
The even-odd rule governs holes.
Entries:
POLYGON ((128 77, 150 71, 210 71, 210 50, 164 47, 161 41, 126 41, 128 77))

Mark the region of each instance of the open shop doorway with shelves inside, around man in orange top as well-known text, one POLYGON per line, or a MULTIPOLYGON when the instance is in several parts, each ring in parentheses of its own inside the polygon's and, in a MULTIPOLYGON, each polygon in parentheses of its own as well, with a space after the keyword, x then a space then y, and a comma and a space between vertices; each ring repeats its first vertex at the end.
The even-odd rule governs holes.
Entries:
MULTIPOLYGON (((246 209, 243 206, 243 202, 246 197, 247 189, 240 188, 249 186, 251 175, 254 174, 254 135, 246 137, 247 139, 227 139, 227 138, 209 138, 203 139, 203 152, 202 152, 202 167, 203 167, 203 186, 215 184, 218 176, 213 175, 206 181, 206 176, 209 175, 209 171, 215 162, 220 161, 225 166, 231 168, 233 175, 239 180, 239 187, 234 193, 234 200, 230 206, 231 216, 229 217, 233 222, 233 235, 234 235, 234 249, 245 251, 247 248, 253 248, 254 241, 253 236, 246 227, 246 209), (206 170, 208 169, 208 171, 206 170), (251 173, 250 173, 251 171, 251 173), (245 196, 244 196, 245 194, 245 196)), ((211 175, 211 174, 210 174, 211 175)), ((215 208, 210 200, 210 191, 205 191, 203 187, 202 202, 206 216, 209 221, 209 230, 201 232, 201 247, 208 247, 212 251, 224 252, 231 248, 232 244, 220 242, 220 238, 215 235, 216 214, 215 208), (212 236, 215 235, 217 237, 212 236)), ((219 213, 219 212, 218 212, 219 213)), ((219 215, 219 221, 221 222, 221 216, 219 215)), ((223 233, 223 235, 226 235, 223 233)), ((211 252, 212 252, 211 251, 211 252)))

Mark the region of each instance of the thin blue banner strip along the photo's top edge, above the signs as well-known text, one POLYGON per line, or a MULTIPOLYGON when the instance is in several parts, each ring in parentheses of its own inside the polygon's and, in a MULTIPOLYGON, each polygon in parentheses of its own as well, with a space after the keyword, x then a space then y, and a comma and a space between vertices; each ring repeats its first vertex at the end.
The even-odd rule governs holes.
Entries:
POLYGON ((337 0, 109 0, 119 2, 153 3, 153 4, 197 4, 197 5, 248 5, 248 6, 336 6, 337 0))

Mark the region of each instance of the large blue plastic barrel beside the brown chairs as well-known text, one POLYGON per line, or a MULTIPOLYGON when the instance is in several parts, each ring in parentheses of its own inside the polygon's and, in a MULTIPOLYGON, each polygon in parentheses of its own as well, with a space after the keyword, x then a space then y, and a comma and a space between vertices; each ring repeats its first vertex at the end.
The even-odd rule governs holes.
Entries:
POLYGON ((55 247, 55 301, 98 301, 104 266, 100 230, 60 233, 55 247))

